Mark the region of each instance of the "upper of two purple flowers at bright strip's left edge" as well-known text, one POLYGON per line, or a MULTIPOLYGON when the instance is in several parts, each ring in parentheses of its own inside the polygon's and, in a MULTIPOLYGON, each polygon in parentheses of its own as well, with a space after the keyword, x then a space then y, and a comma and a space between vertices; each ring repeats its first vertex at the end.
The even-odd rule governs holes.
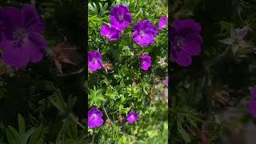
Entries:
POLYGON ((88 51, 88 66, 92 71, 102 69, 102 54, 99 51, 88 51))

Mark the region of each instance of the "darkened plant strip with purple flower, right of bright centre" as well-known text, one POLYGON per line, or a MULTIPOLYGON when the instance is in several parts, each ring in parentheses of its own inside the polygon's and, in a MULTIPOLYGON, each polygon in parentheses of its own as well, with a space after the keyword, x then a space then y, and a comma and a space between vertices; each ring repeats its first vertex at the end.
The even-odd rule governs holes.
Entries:
POLYGON ((254 143, 255 1, 170 7, 173 143, 254 143))

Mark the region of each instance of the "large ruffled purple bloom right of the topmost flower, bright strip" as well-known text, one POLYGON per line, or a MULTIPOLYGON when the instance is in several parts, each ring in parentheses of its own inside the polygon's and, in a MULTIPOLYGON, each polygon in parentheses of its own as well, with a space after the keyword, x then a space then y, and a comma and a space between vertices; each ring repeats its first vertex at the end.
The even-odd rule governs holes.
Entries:
POLYGON ((154 43, 154 36, 158 35, 158 28, 149 20, 134 25, 134 42, 139 46, 149 46, 154 43))

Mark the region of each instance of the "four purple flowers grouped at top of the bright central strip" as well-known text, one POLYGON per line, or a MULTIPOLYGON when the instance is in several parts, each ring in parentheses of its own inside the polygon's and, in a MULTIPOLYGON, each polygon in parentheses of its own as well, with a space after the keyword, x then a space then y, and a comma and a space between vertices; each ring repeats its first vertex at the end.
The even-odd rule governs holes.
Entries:
MULTIPOLYGON (((127 6, 115 6, 110 11, 110 24, 103 25, 100 34, 110 41, 116 41, 122 36, 122 31, 131 24, 132 16, 127 6)), ((159 29, 167 27, 166 16, 159 19, 159 29)), ((149 20, 138 22, 134 25, 133 40, 139 46, 149 46, 154 43, 154 37, 158 35, 158 28, 149 20)))

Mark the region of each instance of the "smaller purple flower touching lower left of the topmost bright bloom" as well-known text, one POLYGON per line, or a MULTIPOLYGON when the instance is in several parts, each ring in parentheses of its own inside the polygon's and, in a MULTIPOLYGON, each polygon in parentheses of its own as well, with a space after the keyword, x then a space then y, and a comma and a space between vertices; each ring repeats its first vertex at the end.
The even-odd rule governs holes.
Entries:
POLYGON ((110 27, 109 25, 103 25, 100 33, 102 37, 109 39, 110 41, 116 41, 121 37, 121 31, 110 27))

